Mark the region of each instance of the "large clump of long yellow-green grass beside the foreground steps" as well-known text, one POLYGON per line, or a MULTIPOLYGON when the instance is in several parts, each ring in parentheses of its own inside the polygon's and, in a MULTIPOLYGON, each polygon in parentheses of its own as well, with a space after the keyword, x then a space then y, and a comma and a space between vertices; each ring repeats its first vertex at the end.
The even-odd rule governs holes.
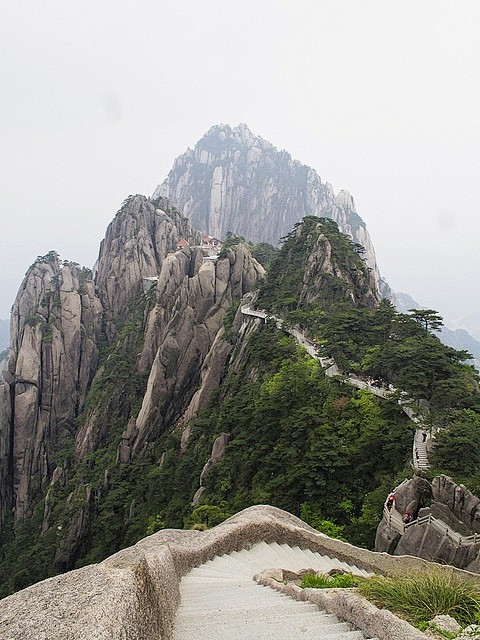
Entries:
POLYGON ((362 580, 360 593, 414 624, 446 614, 460 624, 471 624, 480 612, 480 582, 466 580, 453 571, 374 576, 362 580))

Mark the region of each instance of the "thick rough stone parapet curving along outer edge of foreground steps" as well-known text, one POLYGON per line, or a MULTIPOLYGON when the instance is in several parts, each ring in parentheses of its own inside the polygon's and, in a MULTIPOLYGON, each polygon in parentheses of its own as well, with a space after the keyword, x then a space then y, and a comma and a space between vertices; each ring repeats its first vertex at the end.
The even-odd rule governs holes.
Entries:
POLYGON ((328 538, 275 507, 250 507, 209 531, 159 531, 100 564, 49 578, 4 598, 0 639, 170 640, 181 577, 215 556, 262 540, 298 545, 387 575, 431 564, 328 538))

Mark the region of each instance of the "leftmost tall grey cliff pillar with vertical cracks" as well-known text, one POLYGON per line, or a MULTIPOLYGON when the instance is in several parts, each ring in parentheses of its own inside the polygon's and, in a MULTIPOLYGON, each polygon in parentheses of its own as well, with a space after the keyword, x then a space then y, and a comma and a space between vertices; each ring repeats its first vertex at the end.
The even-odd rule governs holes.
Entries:
POLYGON ((2 519, 31 513, 74 430, 98 362, 101 305, 91 272, 52 252, 30 267, 12 309, 3 395, 2 519))

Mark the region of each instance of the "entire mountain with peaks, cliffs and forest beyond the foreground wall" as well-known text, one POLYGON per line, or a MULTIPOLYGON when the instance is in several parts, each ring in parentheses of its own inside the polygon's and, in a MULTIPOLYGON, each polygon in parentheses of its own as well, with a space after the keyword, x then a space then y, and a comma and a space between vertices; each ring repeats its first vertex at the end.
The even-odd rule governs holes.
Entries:
POLYGON ((0 385, 0 595, 255 504, 371 548, 414 442, 474 485, 478 377, 386 293, 349 194, 245 125, 129 196, 93 270, 38 257, 0 385))

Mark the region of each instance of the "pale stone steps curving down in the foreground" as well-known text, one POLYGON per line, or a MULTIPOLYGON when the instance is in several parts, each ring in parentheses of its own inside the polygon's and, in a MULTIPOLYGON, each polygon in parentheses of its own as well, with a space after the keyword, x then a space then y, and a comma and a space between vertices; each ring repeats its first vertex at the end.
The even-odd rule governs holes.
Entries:
POLYGON ((362 631, 316 605, 297 602, 254 582, 256 573, 269 568, 295 572, 337 568, 358 576, 370 575, 354 565, 309 549, 259 542, 248 550, 217 556, 182 578, 173 639, 365 639, 362 631))

